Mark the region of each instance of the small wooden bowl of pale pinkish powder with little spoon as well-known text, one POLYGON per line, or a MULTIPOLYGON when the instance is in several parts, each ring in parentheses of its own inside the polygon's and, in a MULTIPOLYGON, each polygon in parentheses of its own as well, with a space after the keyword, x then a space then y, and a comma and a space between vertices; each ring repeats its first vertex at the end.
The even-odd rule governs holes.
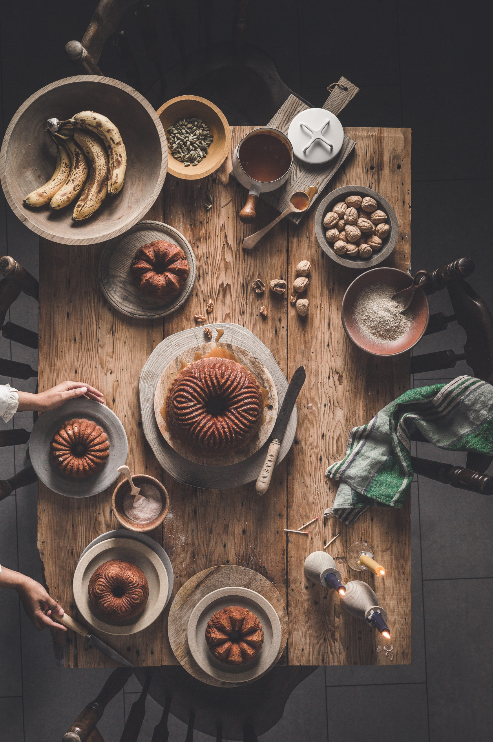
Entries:
MULTIPOLYGON (((129 531, 137 531, 137 533, 144 533, 145 531, 152 531, 153 528, 157 528, 161 525, 165 517, 168 515, 168 508, 170 506, 170 499, 166 487, 164 487, 158 479, 154 479, 153 476, 148 474, 132 474, 132 481, 136 487, 139 487, 142 494, 148 494, 148 502, 137 503, 134 508, 134 516, 136 519, 130 518, 125 513, 125 498, 130 495, 130 485, 128 479, 123 479, 122 482, 116 487, 113 492, 111 499, 111 507, 115 514, 116 520, 124 528, 128 528, 129 531), (152 489, 151 489, 152 488, 152 489), (159 496, 156 496, 156 492, 159 496), (159 500, 161 508, 159 507, 159 500), (144 520, 146 513, 152 513, 149 520, 144 520)), ((129 500, 127 501, 127 503, 129 500)), ((131 503, 131 501, 130 501, 131 503)))

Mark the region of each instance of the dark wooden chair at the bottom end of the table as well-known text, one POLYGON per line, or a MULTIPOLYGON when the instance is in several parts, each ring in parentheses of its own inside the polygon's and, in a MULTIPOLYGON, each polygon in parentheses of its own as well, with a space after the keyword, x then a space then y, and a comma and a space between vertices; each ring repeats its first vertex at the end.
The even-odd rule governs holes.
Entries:
MULTIPOLYGON (((180 666, 140 668, 136 677, 142 683, 142 692, 130 709, 120 742, 136 742, 139 737, 148 694, 163 707, 150 742, 168 742, 170 713, 187 724, 184 742, 193 741, 194 730, 211 735, 218 742, 257 742, 257 735, 267 732, 282 717, 291 692, 315 669, 276 666, 254 683, 229 689, 201 683, 180 666)), ((63 742, 103 742, 96 723, 131 673, 119 668, 110 675, 99 695, 67 730, 63 742), (97 736, 93 736, 95 732, 97 736)))

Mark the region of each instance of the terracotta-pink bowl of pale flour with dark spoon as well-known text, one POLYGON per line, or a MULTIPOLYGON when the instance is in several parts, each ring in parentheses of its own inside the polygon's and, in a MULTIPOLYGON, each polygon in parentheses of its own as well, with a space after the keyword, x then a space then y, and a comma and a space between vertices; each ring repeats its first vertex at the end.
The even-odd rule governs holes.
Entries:
POLYGON ((341 319, 355 345, 371 355, 399 355, 420 341, 430 318, 423 289, 417 289, 403 315, 402 303, 391 298, 411 283, 411 276, 396 268, 374 268, 354 279, 343 298, 341 319))

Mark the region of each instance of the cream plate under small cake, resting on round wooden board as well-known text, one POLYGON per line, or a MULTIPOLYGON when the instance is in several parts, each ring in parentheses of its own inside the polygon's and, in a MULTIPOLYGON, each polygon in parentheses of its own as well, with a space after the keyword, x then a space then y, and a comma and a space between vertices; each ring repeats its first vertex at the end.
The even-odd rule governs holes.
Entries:
POLYGON ((281 623, 271 603, 254 590, 219 588, 203 597, 193 608, 188 619, 187 639, 193 659, 208 675, 227 683, 248 683, 265 675, 276 663, 282 639, 281 623), (228 605, 247 608, 262 624, 264 632, 262 649, 257 657, 245 665, 231 666, 219 662, 205 643, 205 629, 211 616, 228 605))

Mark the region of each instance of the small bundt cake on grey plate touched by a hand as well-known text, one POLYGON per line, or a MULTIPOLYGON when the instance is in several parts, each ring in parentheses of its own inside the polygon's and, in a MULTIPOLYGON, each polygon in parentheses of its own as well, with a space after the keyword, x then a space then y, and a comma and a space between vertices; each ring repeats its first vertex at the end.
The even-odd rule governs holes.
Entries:
POLYGON ((84 479, 105 466, 110 444, 105 431, 93 420, 67 420, 51 439, 50 456, 64 474, 84 479))

